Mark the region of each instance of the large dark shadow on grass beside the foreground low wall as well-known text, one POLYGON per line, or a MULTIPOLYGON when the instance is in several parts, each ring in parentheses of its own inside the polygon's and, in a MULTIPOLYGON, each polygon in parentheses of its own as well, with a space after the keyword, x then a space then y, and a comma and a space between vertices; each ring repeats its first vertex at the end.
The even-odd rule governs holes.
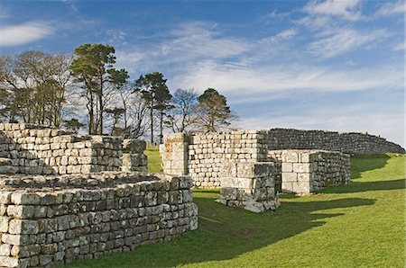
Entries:
POLYGON ((198 230, 174 241, 141 246, 134 252, 108 255, 72 267, 168 267, 227 260, 322 226, 323 219, 343 214, 320 210, 369 206, 372 199, 285 201, 276 212, 255 214, 214 202, 217 192, 196 192, 198 230))

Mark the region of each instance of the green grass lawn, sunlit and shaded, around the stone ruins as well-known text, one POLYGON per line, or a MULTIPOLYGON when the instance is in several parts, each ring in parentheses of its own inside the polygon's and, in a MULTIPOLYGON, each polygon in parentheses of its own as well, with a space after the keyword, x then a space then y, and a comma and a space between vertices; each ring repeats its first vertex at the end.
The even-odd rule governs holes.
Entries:
POLYGON ((404 267, 405 164, 404 155, 355 156, 350 185, 284 195, 263 214, 197 190, 198 230, 71 267, 404 267))

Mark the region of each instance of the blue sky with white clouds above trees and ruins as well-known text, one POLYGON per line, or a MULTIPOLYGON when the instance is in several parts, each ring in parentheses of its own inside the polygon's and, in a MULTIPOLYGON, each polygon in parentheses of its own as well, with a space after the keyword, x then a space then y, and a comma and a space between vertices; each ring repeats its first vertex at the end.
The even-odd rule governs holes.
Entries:
POLYGON ((4 1, 0 54, 115 47, 131 79, 224 94, 247 130, 368 132, 404 147, 403 1, 4 1))

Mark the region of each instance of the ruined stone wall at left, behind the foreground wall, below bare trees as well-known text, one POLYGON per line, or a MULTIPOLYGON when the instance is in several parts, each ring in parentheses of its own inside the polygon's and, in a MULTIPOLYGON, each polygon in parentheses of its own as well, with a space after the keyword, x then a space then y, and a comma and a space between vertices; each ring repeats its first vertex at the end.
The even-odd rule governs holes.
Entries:
POLYGON ((31 124, 0 124, 0 174, 145 171, 143 152, 133 146, 123 156, 122 142, 118 137, 82 136, 31 124))

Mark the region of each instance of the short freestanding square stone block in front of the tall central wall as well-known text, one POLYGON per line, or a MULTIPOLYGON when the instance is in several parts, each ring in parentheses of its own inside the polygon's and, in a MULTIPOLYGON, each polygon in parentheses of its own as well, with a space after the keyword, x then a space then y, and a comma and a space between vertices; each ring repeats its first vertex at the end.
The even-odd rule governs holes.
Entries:
POLYGON ((218 202, 230 206, 264 212, 275 210, 273 163, 226 163, 221 172, 221 191, 218 202))

